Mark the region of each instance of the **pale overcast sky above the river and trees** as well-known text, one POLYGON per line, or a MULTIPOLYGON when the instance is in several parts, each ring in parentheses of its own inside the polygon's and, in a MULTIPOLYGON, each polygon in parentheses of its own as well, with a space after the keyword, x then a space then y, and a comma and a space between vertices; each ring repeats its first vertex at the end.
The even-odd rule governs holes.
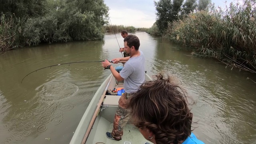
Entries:
MULTIPOLYGON (((156 21, 154 0, 104 0, 114 25, 150 28, 156 21)), ((158 1, 158 0, 156 0, 158 1)), ((215 6, 229 6, 234 0, 212 0, 215 6)))

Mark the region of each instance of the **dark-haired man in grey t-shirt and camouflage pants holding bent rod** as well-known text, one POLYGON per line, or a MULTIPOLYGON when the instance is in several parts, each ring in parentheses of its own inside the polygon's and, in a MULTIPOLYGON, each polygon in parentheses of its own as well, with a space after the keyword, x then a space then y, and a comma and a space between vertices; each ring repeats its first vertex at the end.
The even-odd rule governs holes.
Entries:
POLYGON ((124 68, 118 73, 115 68, 106 60, 102 62, 104 68, 110 69, 117 81, 124 80, 125 93, 118 101, 118 109, 114 118, 112 132, 106 132, 106 136, 113 140, 121 140, 123 128, 130 119, 130 109, 127 108, 127 99, 136 92, 145 80, 145 57, 139 50, 140 40, 137 36, 128 35, 124 38, 124 50, 130 56, 124 58, 114 58, 113 63, 127 61, 124 68))

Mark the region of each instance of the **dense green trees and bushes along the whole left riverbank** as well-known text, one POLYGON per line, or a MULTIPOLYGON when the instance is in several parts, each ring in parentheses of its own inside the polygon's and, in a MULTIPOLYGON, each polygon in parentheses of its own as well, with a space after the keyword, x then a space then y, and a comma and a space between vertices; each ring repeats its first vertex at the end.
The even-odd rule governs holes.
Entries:
POLYGON ((40 43, 102 40, 104 0, 0 1, 0 52, 40 43))

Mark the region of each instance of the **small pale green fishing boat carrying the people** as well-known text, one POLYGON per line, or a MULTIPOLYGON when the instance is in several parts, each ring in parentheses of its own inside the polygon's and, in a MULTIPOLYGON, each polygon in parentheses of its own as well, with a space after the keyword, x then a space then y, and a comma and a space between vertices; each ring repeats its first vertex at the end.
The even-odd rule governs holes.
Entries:
MULTIPOLYGON (((146 72, 145 80, 152 80, 146 72)), ((70 144, 145 144, 146 142, 152 144, 130 122, 124 127, 122 140, 116 141, 106 137, 106 132, 112 132, 114 116, 120 98, 120 96, 106 95, 107 90, 114 88, 123 88, 123 82, 118 82, 110 74, 94 94, 70 144)))

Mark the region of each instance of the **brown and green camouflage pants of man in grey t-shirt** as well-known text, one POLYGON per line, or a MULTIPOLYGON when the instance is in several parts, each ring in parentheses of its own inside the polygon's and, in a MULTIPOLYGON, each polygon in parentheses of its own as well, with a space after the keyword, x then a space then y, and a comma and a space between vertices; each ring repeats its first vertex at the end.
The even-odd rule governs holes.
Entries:
POLYGON ((114 118, 113 130, 112 130, 112 137, 115 140, 121 140, 123 136, 123 129, 128 120, 130 119, 130 109, 127 109, 128 98, 132 94, 124 93, 119 101, 118 101, 118 109, 116 110, 116 115, 114 118))

